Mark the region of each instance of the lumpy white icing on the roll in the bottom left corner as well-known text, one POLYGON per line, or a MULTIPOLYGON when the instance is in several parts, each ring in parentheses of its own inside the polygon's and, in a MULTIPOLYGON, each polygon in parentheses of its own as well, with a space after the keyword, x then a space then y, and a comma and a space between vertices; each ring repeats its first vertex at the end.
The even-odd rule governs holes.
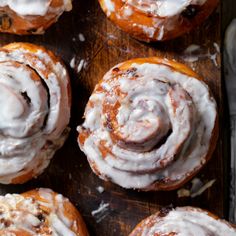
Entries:
POLYGON ((30 235, 45 235, 44 230, 47 230, 46 232, 51 232, 54 236, 75 236, 76 234, 70 229, 73 222, 64 214, 64 203, 68 200, 61 195, 54 196, 53 194, 49 189, 39 189, 39 195, 43 201, 25 198, 18 194, 0 196, 0 221, 2 222, 0 229, 6 229, 9 232, 23 229, 30 235), (41 210, 45 201, 49 214, 41 210), (38 218, 39 215, 43 217, 43 221, 38 218), (10 222, 10 225, 7 227, 4 222, 10 222), (44 225, 45 222, 49 224, 44 225), (41 230, 43 227, 47 229, 41 230))

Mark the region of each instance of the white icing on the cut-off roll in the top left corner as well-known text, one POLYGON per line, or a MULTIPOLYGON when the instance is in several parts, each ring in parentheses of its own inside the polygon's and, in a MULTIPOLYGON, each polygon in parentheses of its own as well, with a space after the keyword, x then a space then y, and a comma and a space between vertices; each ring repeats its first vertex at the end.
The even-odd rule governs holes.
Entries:
MULTIPOLYGON (((52 0, 1 0, 0 7, 8 6, 19 15, 45 16, 50 11, 52 0)), ((64 0, 60 11, 70 11, 71 0, 64 0)), ((59 9, 58 9, 59 11, 59 9)))

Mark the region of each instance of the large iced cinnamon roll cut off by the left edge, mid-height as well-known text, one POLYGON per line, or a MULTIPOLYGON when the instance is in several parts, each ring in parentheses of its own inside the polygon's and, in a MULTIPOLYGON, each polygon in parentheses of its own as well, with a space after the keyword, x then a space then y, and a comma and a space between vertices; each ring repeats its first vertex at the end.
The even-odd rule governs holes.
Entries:
POLYGON ((0 183, 23 183, 48 166, 68 136, 71 92, 62 62, 43 47, 0 49, 0 183))

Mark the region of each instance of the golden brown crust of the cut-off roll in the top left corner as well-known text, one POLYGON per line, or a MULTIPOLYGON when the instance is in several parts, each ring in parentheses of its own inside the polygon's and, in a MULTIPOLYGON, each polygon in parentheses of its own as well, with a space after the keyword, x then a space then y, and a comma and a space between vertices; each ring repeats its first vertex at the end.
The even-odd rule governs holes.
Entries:
POLYGON ((18 35, 42 34, 66 10, 64 4, 63 0, 52 0, 46 15, 20 15, 9 6, 0 7, 0 32, 18 35))

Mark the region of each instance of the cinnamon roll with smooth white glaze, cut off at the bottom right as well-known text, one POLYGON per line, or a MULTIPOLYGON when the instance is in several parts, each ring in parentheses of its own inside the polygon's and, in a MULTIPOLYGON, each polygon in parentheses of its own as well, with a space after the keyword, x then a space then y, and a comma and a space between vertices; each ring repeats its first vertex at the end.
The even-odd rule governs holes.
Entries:
POLYGON ((129 236, 234 236, 235 226, 194 207, 162 209, 139 223, 129 236))

